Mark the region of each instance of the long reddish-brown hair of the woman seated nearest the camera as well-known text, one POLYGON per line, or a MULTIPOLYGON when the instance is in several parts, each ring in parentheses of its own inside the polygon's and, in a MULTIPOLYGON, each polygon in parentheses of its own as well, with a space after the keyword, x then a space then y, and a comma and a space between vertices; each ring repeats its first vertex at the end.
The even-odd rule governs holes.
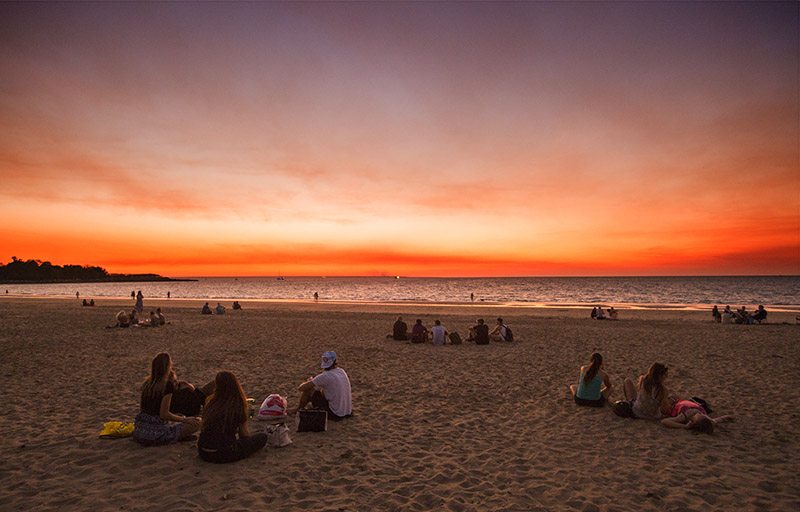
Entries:
POLYGON ((223 370, 214 380, 217 388, 203 408, 203 430, 234 434, 247 421, 247 397, 232 372, 223 370))

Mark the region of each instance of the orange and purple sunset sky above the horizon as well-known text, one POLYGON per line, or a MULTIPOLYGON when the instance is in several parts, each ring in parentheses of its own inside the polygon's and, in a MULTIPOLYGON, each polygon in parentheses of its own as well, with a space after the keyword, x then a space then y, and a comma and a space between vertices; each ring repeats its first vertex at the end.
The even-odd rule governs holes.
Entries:
POLYGON ((800 4, 0 4, 0 262, 800 274, 800 4))

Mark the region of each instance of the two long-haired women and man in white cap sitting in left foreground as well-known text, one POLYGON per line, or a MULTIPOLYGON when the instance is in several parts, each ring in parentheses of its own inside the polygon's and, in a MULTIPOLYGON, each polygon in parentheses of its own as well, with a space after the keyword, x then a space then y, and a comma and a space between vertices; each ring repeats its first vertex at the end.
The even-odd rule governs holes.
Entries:
MULTIPOLYGON (((340 368, 336 352, 322 355, 322 372, 300 384, 294 415, 309 404, 327 412, 329 420, 353 415, 350 379, 340 368)), ((251 434, 251 417, 239 379, 223 370, 214 381, 195 388, 178 380, 172 358, 162 352, 153 358, 150 375, 141 387, 140 412, 134 422, 133 438, 143 445, 163 445, 189 439, 200 432, 197 451, 201 459, 226 463, 249 457, 267 443, 263 432, 251 434)))

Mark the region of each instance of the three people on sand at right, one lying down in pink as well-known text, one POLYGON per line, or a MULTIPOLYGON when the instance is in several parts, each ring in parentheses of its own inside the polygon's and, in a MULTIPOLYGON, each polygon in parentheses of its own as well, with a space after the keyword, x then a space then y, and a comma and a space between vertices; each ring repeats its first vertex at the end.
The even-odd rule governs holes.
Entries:
MULTIPOLYGON (((671 395, 667 390, 668 372, 665 365, 653 363, 636 383, 626 378, 623 382, 626 402, 617 402, 615 406, 629 408, 630 416, 634 418, 660 419, 665 427, 707 434, 712 434, 718 423, 733 419, 730 415, 712 418, 701 400, 671 395)), ((575 403, 588 407, 604 407, 613 388, 611 378, 603 369, 603 356, 598 352, 592 354, 588 365, 581 366, 578 385, 570 386, 575 403)))

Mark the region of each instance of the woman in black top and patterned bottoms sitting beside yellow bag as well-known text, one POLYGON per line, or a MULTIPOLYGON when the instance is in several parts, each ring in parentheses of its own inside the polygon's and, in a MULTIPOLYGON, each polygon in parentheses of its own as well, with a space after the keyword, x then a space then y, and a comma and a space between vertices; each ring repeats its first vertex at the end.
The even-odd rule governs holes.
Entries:
POLYGON ((171 444, 189 438, 200 428, 200 418, 170 412, 175 385, 170 381, 172 359, 162 352, 150 364, 142 384, 141 412, 136 415, 133 438, 144 445, 171 444))

